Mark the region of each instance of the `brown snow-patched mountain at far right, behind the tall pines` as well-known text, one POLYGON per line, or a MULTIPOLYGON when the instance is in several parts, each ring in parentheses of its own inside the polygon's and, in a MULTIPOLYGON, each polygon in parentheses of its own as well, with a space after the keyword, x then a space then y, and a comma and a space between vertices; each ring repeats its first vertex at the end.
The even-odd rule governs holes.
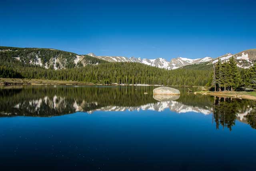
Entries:
POLYGON ((237 54, 227 53, 225 55, 219 56, 212 60, 212 63, 215 64, 220 59, 222 62, 226 62, 229 58, 234 57, 236 62, 238 63, 236 66, 240 68, 250 68, 254 62, 256 62, 256 49, 249 49, 239 52, 237 54))

